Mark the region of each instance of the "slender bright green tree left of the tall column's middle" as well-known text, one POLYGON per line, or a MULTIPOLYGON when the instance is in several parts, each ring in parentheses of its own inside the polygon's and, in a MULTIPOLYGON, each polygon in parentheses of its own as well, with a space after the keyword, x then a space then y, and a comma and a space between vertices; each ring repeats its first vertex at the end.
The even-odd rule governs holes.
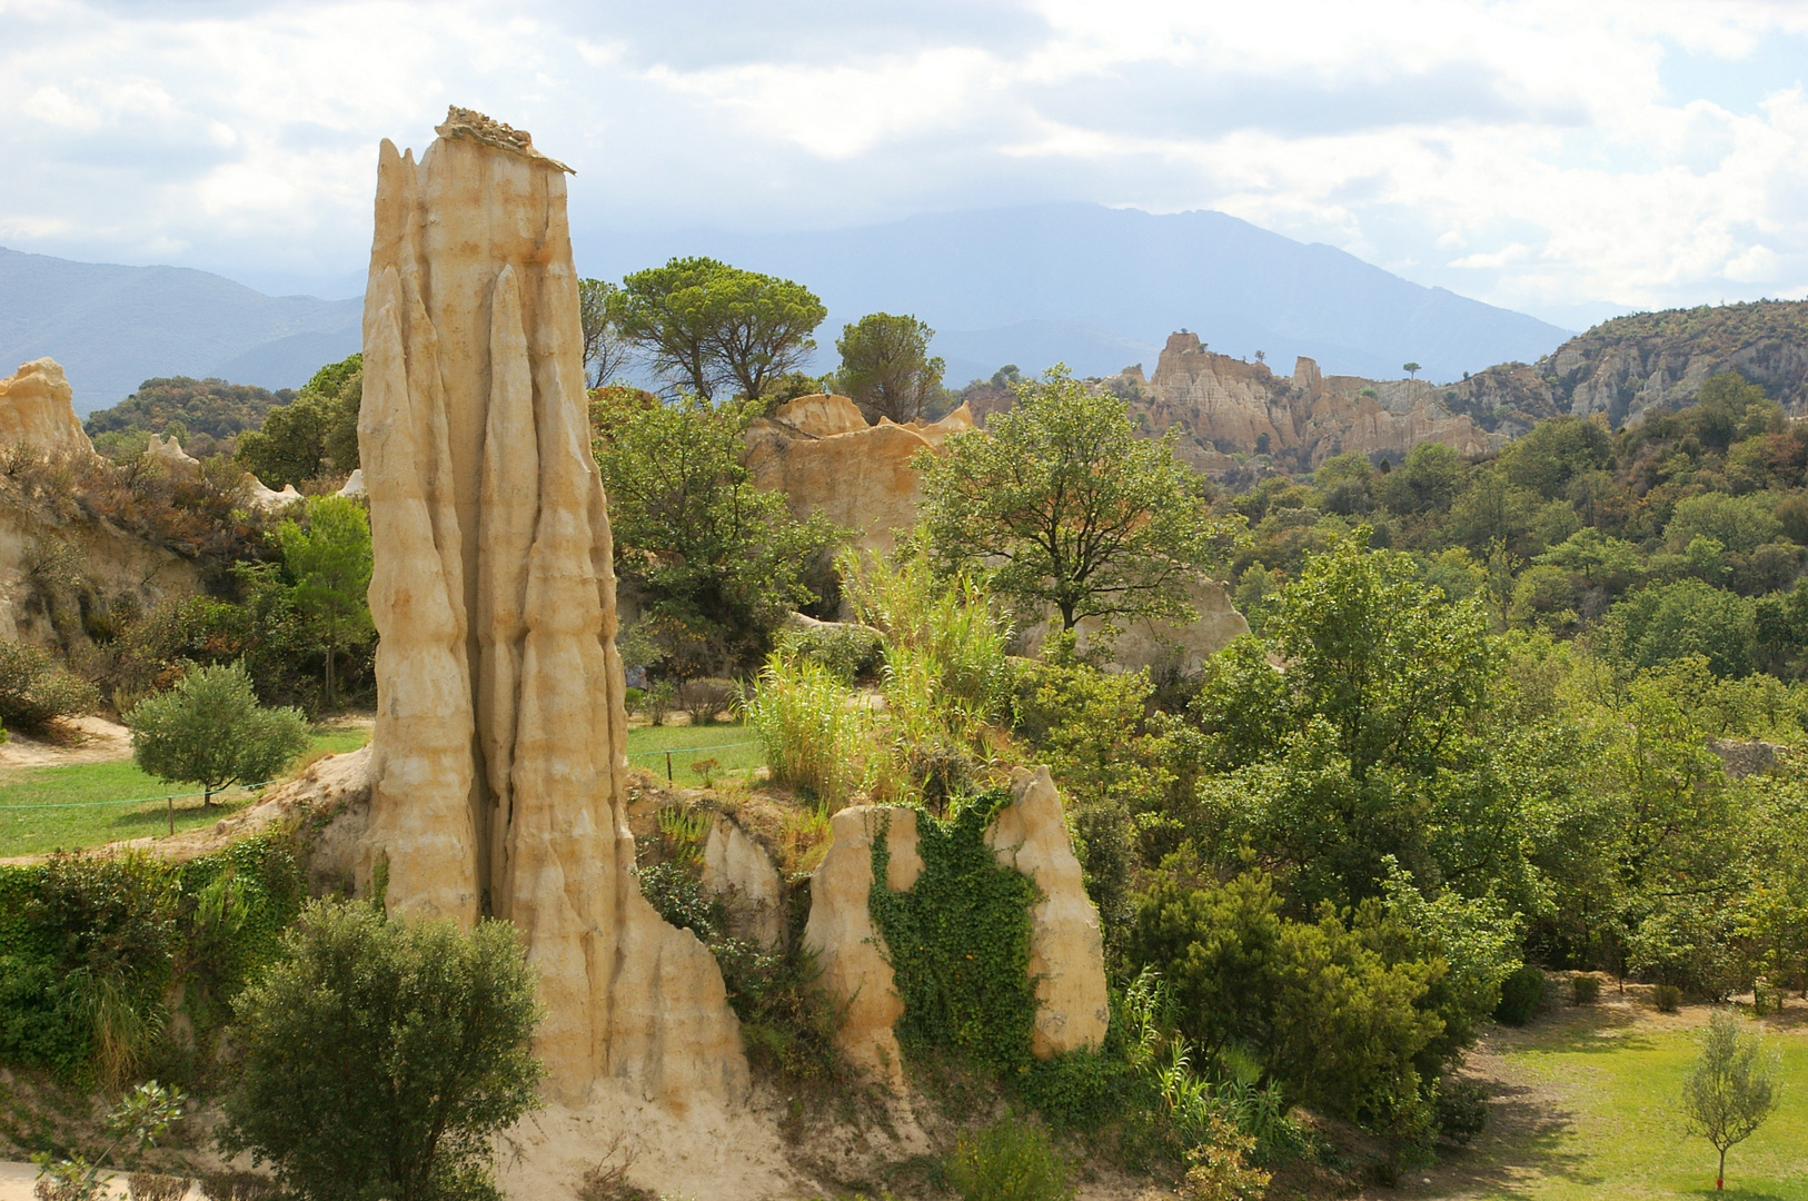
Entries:
POLYGON ((277 526, 282 563, 295 581, 295 610, 327 651, 327 707, 334 704, 333 658, 376 637, 365 591, 371 588, 371 519, 358 501, 316 496, 306 525, 277 526))

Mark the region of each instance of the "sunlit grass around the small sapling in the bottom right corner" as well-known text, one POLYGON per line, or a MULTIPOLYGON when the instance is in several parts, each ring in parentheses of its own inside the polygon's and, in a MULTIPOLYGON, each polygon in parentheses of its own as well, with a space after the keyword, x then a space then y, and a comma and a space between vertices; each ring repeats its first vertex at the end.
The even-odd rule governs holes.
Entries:
POLYGON ((1723 1194, 1714 1194, 1714 1149, 1683 1132, 1678 1109, 1705 1024, 1705 1007, 1665 1017, 1602 1004, 1501 1029, 1474 1060, 1495 1089, 1490 1130, 1412 1174, 1399 1196, 1808 1201, 1808 1007, 1797 1000, 1763 1022, 1783 1056, 1781 1105, 1727 1156, 1723 1194))

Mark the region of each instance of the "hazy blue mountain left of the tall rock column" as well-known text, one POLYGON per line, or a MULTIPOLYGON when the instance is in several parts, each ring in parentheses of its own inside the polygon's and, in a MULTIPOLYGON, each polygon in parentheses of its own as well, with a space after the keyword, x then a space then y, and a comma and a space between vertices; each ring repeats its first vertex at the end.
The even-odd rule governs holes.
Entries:
POLYGON ((0 248, 0 374, 49 355, 76 412, 152 376, 295 387, 360 344, 363 302, 266 297, 186 268, 71 262, 0 248))

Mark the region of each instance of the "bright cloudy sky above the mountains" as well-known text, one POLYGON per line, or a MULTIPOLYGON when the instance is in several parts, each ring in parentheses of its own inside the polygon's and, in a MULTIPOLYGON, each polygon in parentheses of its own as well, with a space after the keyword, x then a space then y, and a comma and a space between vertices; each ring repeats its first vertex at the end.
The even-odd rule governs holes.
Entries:
POLYGON ((1808 297, 1808 0, 0 0, 0 246, 356 291, 448 103, 611 232, 1217 208, 1566 326, 1808 297))

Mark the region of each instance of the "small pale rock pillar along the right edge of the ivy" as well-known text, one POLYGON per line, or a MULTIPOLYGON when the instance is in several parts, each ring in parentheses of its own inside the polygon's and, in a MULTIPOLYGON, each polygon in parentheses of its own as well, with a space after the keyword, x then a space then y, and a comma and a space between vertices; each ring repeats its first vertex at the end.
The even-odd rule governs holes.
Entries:
POLYGON ((1029 910, 1029 973, 1036 980, 1031 1051, 1049 1058, 1101 1045, 1112 1004, 1099 912, 1087 895, 1047 767, 1011 774, 1011 803, 993 818, 985 845, 1000 866, 1029 875, 1040 892, 1029 910))

